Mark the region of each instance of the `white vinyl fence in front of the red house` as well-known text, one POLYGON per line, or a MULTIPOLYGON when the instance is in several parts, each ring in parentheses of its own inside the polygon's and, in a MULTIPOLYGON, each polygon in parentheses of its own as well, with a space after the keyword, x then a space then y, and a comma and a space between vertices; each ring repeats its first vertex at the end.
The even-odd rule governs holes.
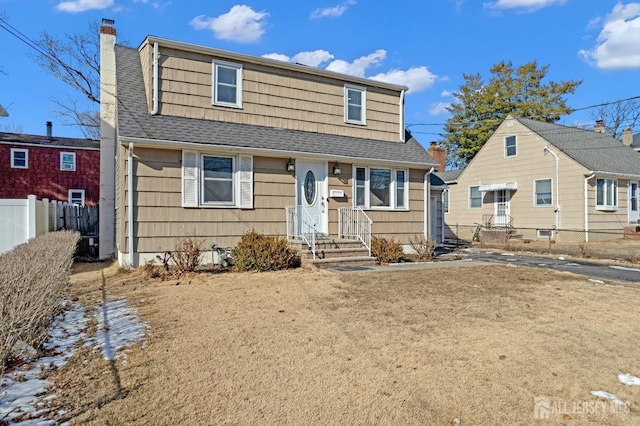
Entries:
POLYGON ((0 200, 0 254, 65 226, 66 206, 62 201, 38 200, 35 195, 27 199, 0 200))

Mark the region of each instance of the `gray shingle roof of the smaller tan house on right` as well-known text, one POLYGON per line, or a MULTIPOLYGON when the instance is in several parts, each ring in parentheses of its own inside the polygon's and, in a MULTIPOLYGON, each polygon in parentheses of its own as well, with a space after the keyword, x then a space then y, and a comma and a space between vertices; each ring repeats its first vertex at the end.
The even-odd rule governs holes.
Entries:
POLYGON ((590 171, 640 175, 640 153, 617 139, 592 130, 513 118, 590 171))

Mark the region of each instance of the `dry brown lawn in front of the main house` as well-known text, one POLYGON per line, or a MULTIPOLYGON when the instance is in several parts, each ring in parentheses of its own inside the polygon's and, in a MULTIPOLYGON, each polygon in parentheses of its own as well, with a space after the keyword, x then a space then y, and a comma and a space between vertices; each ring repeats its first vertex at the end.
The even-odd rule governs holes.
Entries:
POLYGON ((569 411, 540 424, 640 424, 640 387, 617 379, 640 376, 635 285, 508 266, 158 281, 80 265, 81 301, 102 273, 151 335, 126 364, 84 350, 52 374, 75 424, 535 424, 540 395, 569 411), (602 414, 591 390, 630 412, 602 414))

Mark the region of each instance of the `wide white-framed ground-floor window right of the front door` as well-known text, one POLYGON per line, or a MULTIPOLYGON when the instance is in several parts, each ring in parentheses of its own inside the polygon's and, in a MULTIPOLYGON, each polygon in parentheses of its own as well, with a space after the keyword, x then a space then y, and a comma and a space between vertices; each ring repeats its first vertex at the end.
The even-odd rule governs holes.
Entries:
POLYGON ((407 176, 407 170, 403 169, 355 167, 355 205, 371 209, 406 209, 407 176))

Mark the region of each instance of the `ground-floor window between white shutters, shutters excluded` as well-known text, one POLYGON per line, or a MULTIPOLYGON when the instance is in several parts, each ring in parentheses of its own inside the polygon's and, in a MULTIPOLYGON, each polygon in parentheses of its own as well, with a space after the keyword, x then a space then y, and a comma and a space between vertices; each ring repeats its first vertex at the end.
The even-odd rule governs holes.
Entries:
POLYGON ((233 204, 233 157, 202 156, 202 202, 233 204))

